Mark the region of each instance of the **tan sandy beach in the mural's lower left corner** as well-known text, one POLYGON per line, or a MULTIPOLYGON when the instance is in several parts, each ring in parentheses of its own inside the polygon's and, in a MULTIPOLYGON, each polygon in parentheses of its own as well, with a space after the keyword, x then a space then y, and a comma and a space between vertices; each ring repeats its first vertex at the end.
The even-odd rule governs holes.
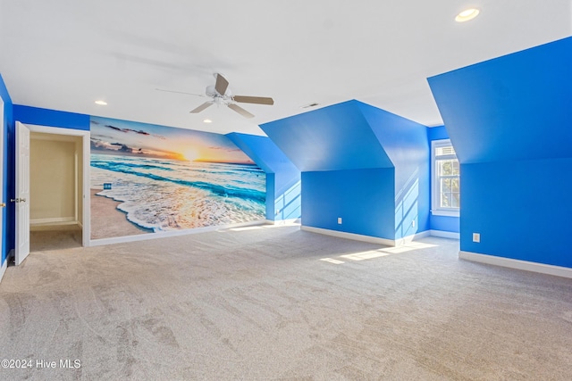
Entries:
POLYGON ((135 236, 150 233, 127 219, 127 214, 117 209, 120 203, 97 195, 102 189, 91 189, 91 239, 115 236, 135 236))

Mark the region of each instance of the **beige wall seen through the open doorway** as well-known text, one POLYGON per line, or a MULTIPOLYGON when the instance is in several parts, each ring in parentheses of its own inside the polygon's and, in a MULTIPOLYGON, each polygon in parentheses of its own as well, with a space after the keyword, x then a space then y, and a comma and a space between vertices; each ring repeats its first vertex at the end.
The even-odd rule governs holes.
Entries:
POLYGON ((81 220, 81 139, 30 134, 30 223, 81 220))

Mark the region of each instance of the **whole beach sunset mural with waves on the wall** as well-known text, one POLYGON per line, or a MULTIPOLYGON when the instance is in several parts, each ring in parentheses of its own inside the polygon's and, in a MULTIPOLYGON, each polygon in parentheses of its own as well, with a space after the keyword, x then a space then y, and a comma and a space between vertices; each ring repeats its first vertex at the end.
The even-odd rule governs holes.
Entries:
POLYGON ((228 137, 91 117, 91 238, 265 219, 265 172, 228 137))

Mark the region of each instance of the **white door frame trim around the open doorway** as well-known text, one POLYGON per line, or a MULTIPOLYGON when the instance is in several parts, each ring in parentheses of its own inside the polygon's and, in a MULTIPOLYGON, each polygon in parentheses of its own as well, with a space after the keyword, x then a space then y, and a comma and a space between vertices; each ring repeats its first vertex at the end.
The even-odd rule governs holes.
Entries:
POLYGON ((84 247, 89 246, 89 237, 91 236, 91 224, 90 224, 90 200, 89 200, 89 188, 90 188, 90 176, 89 176, 89 153, 90 153, 90 137, 89 131, 83 129, 72 129, 72 128, 61 128, 61 127, 47 127, 38 126, 34 124, 26 124, 30 132, 41 132, 44 134, 54 134, 54 135, 68 135, 72 137, 81 137, 82 140, 82 168, 83 168, 83 178, 82 178, 82 214, 81 219, 81 244, 84 247))

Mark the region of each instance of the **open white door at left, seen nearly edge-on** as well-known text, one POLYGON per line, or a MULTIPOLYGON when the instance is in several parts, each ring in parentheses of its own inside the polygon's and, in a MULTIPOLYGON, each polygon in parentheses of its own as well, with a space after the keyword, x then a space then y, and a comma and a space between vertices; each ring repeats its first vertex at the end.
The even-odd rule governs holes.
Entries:
POLYGON ((16 122, 16 266, 29 254, 29 129, 16 122))

